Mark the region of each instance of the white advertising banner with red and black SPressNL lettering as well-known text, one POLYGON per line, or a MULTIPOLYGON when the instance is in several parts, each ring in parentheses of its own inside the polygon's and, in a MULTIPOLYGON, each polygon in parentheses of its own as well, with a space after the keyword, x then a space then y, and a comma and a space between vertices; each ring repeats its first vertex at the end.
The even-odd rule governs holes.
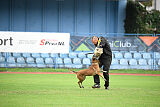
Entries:
POLYGON ((0 52, 69 53, 69 33, 0 32, 0 52))

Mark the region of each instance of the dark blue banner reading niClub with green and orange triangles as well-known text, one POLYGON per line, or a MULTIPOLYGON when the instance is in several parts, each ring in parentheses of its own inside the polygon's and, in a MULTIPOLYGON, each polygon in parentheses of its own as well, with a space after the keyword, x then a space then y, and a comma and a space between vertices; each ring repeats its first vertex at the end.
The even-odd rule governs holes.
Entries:
MULTIPOLYGON (((112 51, 160 52, 159 36, 111 36, 105 38, 112 51)), ((94 48, 91 37, 71 36, 72 51, 93 51, 94 48)))

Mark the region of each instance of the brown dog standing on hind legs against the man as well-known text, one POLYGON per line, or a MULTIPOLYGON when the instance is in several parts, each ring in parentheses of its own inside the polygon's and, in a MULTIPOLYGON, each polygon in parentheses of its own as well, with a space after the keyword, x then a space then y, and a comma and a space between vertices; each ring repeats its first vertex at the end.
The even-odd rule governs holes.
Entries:
POLYGON ((98 74, 104 79, 104 81, 106 81, 106 79, 100 73, 99 60, 95 56, 92 57, 92 64, 88 69, 80 70, 78 72, 75 72, 75 71, 71 71, 71 72, 77 75, 77 78, 79 79, 78 84, 80 88, 84 88, 84 86, 82 85, 82 82, 85 80, 86 76, 93 76, 98 74))

